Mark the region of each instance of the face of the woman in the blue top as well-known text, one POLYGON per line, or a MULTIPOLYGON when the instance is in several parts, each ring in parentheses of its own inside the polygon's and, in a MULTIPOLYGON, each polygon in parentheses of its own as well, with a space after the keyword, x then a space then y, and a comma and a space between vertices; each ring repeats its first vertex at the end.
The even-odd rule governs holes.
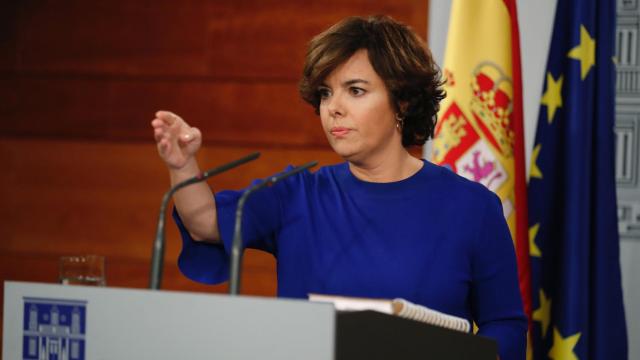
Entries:
POLYGON ((389 93, 366 50, 333 70, 319 93, 322 127, 333 150, 345 160, 366 162, 403 149, 389 93))

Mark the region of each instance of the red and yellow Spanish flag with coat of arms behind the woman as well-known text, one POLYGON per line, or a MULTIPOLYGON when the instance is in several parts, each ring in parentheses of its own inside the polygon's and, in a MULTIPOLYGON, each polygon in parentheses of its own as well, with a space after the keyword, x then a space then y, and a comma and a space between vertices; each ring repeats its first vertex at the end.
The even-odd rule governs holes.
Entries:
POLYGON ((531 317, 520 41, 515 0, 455 0, 432 161, 502 200, 531 317))

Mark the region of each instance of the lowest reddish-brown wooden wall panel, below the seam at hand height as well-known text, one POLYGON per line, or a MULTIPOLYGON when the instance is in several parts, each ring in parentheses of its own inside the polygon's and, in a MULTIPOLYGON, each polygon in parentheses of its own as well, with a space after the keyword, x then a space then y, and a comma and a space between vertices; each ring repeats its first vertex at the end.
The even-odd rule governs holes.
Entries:
MULTIPOLYGON (((255 150, 207 146, 199 161, 204 170, 255 150)), ((240 189, 311 160, 340 161, 330 150, 273 149, 210 184, 240 189)), ((169 187, 153 144, 0 138, 0 163, 0 280, 57 282, 60 256, 100 254, 107 257, 108 286, 148 286, 158 210, 169 187)), ((181 240, 173 221, 167 223, 166 238, 163 288, 227 290, 224 284, 201 285, 182 276, 176 263, 181 240)), ((276 294, 270 254, 247 252, 242 292, 276 294)))

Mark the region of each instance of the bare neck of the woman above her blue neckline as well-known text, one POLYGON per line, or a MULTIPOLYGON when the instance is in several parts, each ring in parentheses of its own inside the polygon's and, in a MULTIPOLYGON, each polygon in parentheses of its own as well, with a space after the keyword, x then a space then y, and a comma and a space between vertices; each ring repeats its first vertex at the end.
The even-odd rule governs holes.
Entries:
POLYGON ((423 166, 406 149, 395 155, 382 156, 363 162, 349 162, 351 173, 360 180, 386 183, 404 180, 417 173, 423 166))

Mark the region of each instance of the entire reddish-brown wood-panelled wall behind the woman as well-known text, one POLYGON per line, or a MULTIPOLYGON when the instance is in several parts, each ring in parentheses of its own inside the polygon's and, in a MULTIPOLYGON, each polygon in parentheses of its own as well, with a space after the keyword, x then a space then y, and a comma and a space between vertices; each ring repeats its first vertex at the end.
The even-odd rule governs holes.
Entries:
MULTIPOLYGON (((385 13, 426 37, 422 0, 0 2, 0 281, 57 281, 61 255, 107 256, 109 286, 148 282, 168 175, 149 121, 198 126, 204 168, 263 149, 211 181, 239 188, 289 164, 340 159, 297 95, 306 44, 349 15, 385 13)), ((419 150, 414 151, 419 154, 419 150)), ((183 277, 167 228, 164 288, 183 277)), ((275 260, 250 251, 245 294, 276 293, 275 260)), ((0 287, 0 298, 2 287, 0 287)), ((1 334, 0 334, 1 336, 1 334)))

